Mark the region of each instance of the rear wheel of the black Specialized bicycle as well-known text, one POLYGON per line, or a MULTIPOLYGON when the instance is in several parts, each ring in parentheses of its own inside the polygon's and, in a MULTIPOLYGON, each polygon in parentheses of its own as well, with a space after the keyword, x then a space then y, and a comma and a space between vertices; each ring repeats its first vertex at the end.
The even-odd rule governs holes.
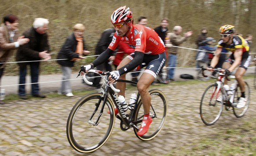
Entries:
MULTIPOLYGON (((151 97, 151 107, 150 107, 150 116, 153 121, 150 124, 149 130, 143 136, 137 135, 137 129, 134 128, 134 133, 137 138, 143 141, 148 141, 157 136, 157 134, 162 130, 166 116, 167 116, 167 100, 165 94, 159 90, 149 91, 151 97)), ((135 110, 134 121, 142 120, 144 116, 144 109, 141 99, 138 102, 138 106, 135 110)), ((137 124, 137 127, 140 127, 141 123, 137 124)))

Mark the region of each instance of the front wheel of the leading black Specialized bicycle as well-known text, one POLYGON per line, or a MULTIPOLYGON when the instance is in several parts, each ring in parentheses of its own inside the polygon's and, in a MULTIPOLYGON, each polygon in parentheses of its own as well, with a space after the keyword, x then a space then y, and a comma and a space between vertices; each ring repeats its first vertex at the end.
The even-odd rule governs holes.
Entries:
POLYGON ((69 114, 66 134, 70 145, 78 152, 88 153, 99 149, 113 130, 113 103, 108 98, 101 113, 101 96, 101 93, 92 93, 80 98, 69 114), (108 110, 110 114, 107 113, 108 110))

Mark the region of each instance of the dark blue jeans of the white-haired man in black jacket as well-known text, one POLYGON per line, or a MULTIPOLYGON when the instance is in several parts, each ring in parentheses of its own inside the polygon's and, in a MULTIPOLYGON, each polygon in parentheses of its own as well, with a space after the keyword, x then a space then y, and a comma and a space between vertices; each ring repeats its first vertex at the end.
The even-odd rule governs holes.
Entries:
MULTIPOLYGON (((31 75, 31 94, 36 95, 39 94, 39 85, 38 85, 38 76, 39 76, 39 62, 29 62, 28 65, 30 66, 30 75, 31 75)), ((27 75, 27 67, 24 69, 19 69, 19 85, 18 87, 18 95, 19 96, 25 96, 26 95, 26 89, 25 89, 25 83, 26 83, 26 75, 27 75)))

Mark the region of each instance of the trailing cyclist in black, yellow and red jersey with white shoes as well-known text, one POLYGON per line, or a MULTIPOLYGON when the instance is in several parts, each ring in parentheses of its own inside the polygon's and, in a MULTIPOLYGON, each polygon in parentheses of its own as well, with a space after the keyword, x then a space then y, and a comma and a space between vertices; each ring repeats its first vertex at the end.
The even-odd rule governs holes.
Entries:
MULTIPOLYGON (((245 82, 243 80, 243 76, 252 60, 252 57, 249 54, 249 45, 243 37, 239 35, 234 35, 233 25, 221 26, 219 29, 219 33, 221 36, 221 40, 219 40, 218 42, 216 55, 212 58, 211 66, 209 66, 207 69, 212 71, 212 68, 216 66, 219 61, 220 52, 223 48, 232 52, 229 58, 223 63, 222 68, 223 72, 225 70, 226 72, 232 72, 238 67, 235 73, 235 77, 238 81, 238 85, 241 88, 241 97, 237 104, 237 108, 242 108, 247 102, 247 99, 245 97, 245 82)), ((227 80, 225 80, 224 84, 227 84, 227 80)))

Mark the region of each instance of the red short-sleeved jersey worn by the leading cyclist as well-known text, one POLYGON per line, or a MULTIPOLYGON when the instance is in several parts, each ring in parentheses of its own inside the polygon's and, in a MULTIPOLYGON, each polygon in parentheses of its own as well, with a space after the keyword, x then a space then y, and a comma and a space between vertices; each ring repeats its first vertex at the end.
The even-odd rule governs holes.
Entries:
POLYGON ((133 25, 131 33, 124 37, 119 36, 116 31, 108 48, 115 50, 119 41, 128 44, 135 51, 145 54, 161 54, 165 51, 164 42, 158 34, 153 29, 143 25, 133 25))

